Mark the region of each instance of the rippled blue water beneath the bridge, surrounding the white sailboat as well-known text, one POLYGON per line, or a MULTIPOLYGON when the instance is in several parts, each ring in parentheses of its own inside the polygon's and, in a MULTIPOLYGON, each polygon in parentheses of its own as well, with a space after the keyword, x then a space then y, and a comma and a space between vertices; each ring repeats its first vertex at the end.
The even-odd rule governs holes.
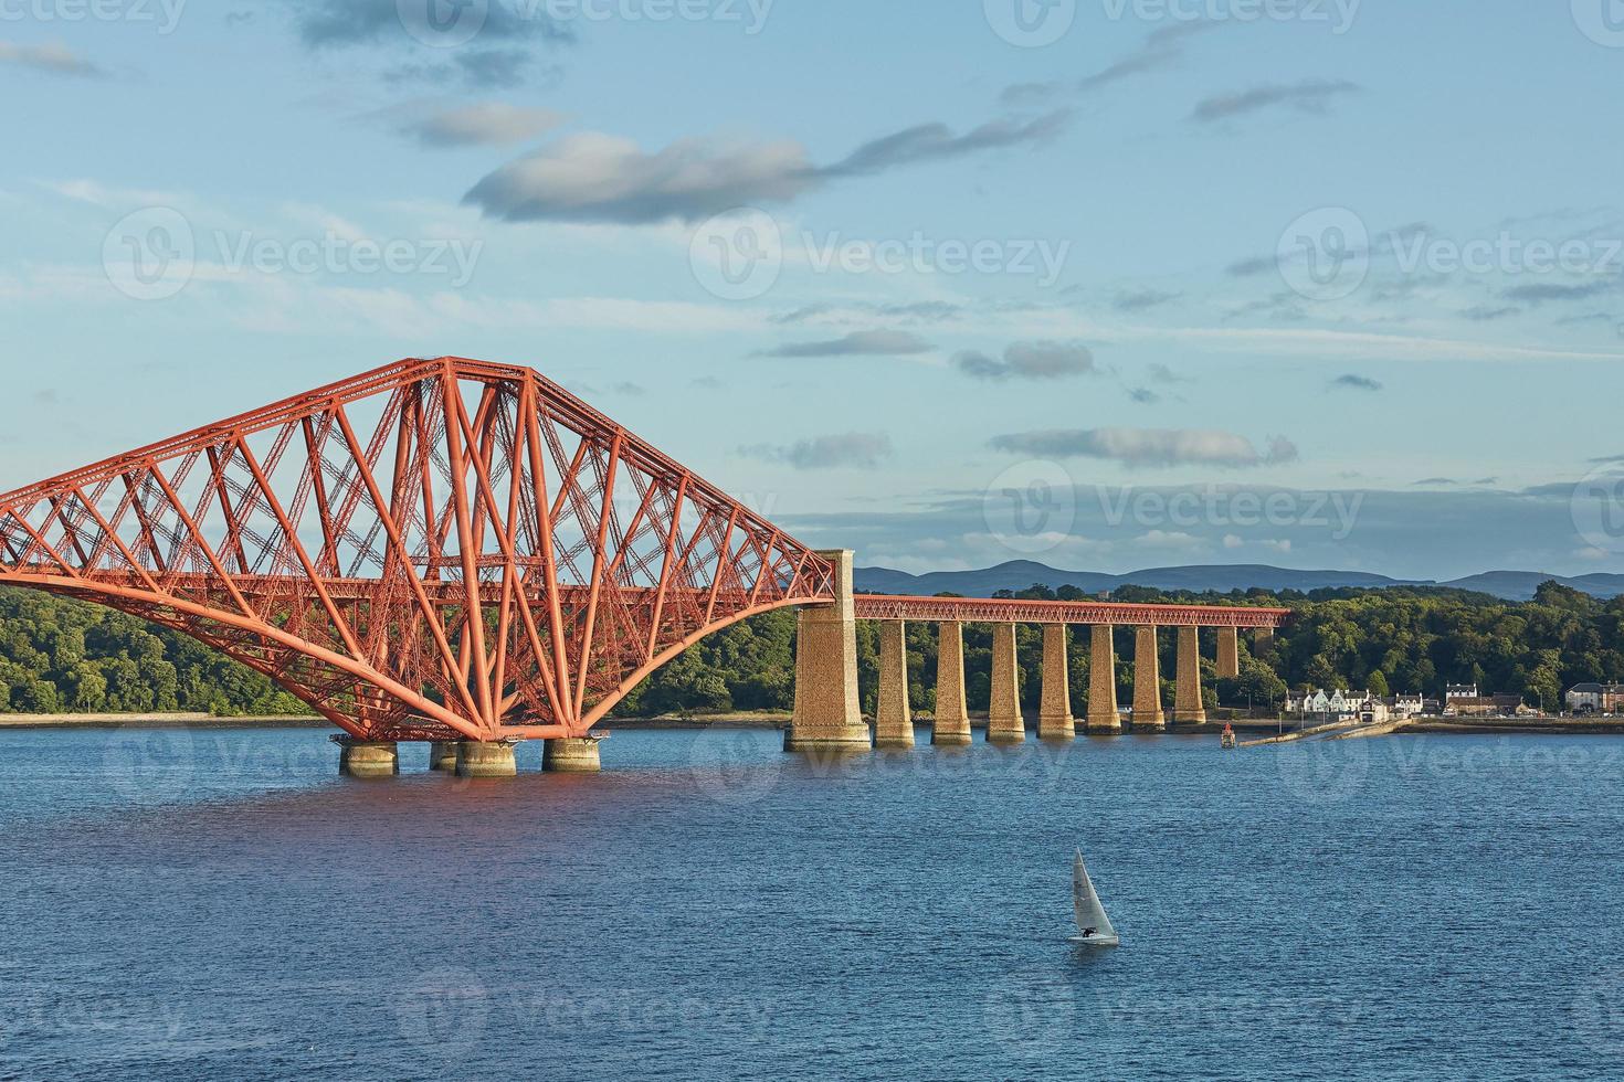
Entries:
POLYGON ((1619 738, 425 758, 0 733, 0 1077, 1624 1076, 1619 738))

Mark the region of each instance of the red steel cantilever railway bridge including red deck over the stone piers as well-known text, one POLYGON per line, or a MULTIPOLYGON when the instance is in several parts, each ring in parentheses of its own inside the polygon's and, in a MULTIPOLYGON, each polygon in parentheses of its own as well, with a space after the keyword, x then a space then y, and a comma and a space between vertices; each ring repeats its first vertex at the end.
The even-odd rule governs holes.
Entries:
MULTIPOLYGON (((835 568, 526 367, 401 360, 0 496, 0 584, 179 629, 352 738, 586 735, 835 568)), ((861 597, 883 620, 1273 626, 1283 610, 861 597)))

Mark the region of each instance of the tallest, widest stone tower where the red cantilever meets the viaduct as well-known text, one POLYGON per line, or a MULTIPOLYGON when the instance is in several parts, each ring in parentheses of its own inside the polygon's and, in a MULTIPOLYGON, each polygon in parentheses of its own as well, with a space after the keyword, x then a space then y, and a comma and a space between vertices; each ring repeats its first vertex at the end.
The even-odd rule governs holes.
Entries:
POLYGON ((857 699, 857 613, 853 552, 820 552, 835 566, 835 603, 802 608, 796 621, 796 712, 784 751, 869 751, 857 699))

